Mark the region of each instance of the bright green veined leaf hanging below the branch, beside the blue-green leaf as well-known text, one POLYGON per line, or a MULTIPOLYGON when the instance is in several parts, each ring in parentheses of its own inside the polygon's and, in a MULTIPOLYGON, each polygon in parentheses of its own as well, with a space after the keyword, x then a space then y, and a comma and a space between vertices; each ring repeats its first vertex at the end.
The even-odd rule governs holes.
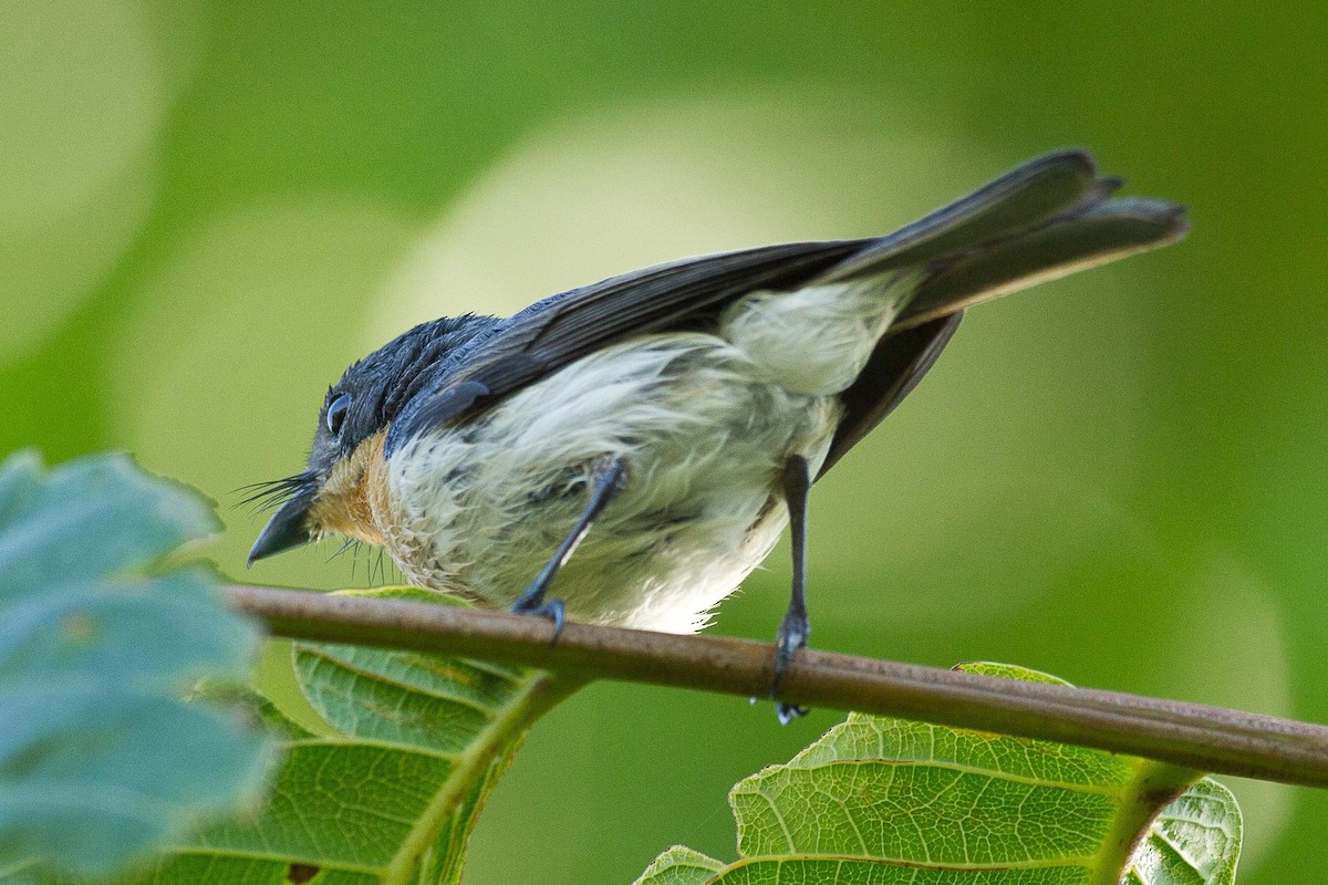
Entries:
MULTIPOLYGON (((356 592, 448 604, 409 589, 356 592)), ((461 878, 470 829, 526 728, 580 683, 479 661, 296 644, 296 678, 323 718, 287 738, 263 812, 207 827, 143 881, 436 885, 461 878)))

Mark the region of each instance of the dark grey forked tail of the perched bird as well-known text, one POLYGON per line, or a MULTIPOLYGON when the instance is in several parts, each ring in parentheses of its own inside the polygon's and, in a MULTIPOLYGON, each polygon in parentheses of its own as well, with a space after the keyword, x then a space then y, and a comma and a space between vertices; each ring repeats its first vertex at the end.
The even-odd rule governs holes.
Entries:
POLYGON ((1185 208, 1113 198, 1118 178, 1082 151, 1031 161, 981 190, 882 238, 822 277, 849 283, 920 267, 891 333, 1097 264, 1166 245, 1189 230, 1185 208))

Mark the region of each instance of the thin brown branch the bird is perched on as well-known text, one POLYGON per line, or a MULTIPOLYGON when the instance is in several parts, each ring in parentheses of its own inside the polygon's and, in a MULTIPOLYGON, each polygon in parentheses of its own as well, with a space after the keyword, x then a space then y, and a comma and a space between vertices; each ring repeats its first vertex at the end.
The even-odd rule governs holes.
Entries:
MULTIPOLYGON (((772 645, 567 624, 454 605, 227 586, 282 637, 482 658, 586 679, 765 697, 772 645)), ((1328 727, 1117 691, 1016 682, 798 651, 780 699, 1146 756, 1199 771, 1328 787, 1328 727)))

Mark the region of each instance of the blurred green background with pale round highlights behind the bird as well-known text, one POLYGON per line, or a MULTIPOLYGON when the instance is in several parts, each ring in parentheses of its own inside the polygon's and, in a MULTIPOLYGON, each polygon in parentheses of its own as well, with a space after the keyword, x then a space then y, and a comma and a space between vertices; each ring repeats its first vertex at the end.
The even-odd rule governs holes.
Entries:
MULTIPOLYGON (((377 563, 335 545, 246 573, 234 491, 300 467, 351 360, 657 260, 883 232, 1082 145, 1191 238, 969 316, 817 488, 813 642, 1328 722, 1324 8, 11 0, 0 450, 129 450, 219 502, 227 573, 363 586, 377 563)), ((777 553, 713 629, 772 636, 786 585, 777 553)), ((469 882, 730 858, 729 785, 838 718, 587 690, 469 882)), ((1234 785, 1242 881, 1305 880, 1328 793, 1234 785)))

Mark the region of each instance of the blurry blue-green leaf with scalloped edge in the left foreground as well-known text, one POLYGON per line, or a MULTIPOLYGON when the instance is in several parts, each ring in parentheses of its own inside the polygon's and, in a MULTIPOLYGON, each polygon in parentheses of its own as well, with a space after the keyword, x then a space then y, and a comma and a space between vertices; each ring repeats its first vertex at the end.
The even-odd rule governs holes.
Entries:
POLYGON ((0 878, 106 874, 255 796, 267 743, 182 695, 247 678, 258 629, 202 571, 142 573, 212 528, 122 456, 0 466, 0 878))

